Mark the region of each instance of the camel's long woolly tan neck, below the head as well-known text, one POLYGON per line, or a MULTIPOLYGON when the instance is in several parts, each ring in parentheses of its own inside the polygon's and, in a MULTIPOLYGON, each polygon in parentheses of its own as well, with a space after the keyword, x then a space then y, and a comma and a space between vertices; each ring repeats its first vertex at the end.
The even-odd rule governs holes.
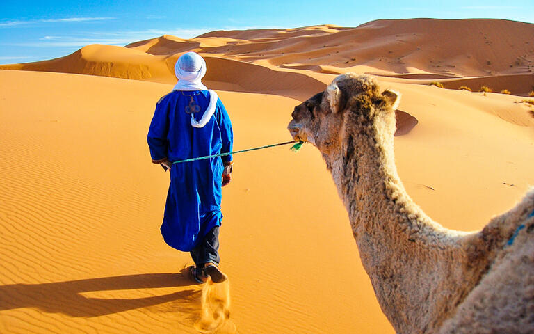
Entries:
POLYGON ((460 234, 433 222, 407 195, 390 128, 347 127, 341 147, 324 157, 380 306, 398 333, 432 332, 442 319, 435 315, 453 312, 463 298, 456 294, 464 279, 460 234), (437 299, 430 306, 429 296, 437 299))

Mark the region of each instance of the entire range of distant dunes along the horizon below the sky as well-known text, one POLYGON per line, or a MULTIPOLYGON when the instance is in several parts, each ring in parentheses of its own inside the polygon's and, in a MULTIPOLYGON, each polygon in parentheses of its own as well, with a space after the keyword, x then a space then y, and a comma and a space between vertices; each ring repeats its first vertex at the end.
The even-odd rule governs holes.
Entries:
MULTIPOLYGON (((240 72, 248 69, 241 69, 239 65, 259 63, 271 69, 304 70, 304 74, 308 71, 368 72, 407 79, 496 77, 488 81, 499 86, 496 82, 501 75, 533 75, 533 35, 534 24, 500 19, 378 20, 356 28, 325 25, 214 31, 190 40, 163 35, 131 43, 124 51, 92 45, 53 61, 1 65, 0 68, 171 83, 175 58, 186 51, 195 51, 203 56, 239 61, 232 65, 232 70, 240 72)), ((228 82, 227 74, 222 70, 211 80, 228 82)), ((531 81, 521 79, 507 89, 525 94, 533 89, 531 81)), ((503 79, 503 83, 508 82, 510 80, 503 79)), ((260 90, 269 89, 261 87, 260 90)), ((245 87, 245 91, 258 90, 245 87)))

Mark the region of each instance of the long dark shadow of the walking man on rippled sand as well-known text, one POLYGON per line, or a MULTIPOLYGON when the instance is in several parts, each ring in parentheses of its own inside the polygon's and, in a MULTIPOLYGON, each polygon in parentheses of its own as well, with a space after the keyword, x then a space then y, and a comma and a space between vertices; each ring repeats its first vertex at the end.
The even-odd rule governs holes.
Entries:
POLYGON ((179 310, 190 312, 195 309, 191 302, 199 303, 201 291, 198 289, 135 299, 90 298, 82 293, 184 287, 193 284, 188 279, 186 269, 183 269, 180 273, 143 273, 56 283, 0 285, 0 311, 38 308, 44 312, 63 313, 71 317, 98 317, 175 301, 177 303, 173 305, 181 305, 179 310))

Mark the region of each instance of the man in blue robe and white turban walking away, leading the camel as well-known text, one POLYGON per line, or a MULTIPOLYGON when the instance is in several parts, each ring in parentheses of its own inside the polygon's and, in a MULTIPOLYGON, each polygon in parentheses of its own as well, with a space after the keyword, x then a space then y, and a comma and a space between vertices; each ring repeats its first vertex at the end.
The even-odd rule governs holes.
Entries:
POLYGON ((232 155, 172 163, 232 152, 232 123, 217 93, 202 84, 201 56, 182 55, 175 74, 179 81, 156 104, 147 136, 152 162, 170 170, 161 234, 172 248, 191 253, 198 283, 207 276, 219 283, 227 279, 218 269, 221 187, 231 180, 232 155))

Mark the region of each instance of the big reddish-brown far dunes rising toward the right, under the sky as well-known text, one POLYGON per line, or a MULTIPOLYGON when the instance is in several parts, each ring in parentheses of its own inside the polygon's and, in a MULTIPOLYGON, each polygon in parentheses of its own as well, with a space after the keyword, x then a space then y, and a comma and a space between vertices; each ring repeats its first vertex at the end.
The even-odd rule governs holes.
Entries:
POLYGON ((532 73, 532 35, 533 24, 498 19, 379 20, 357 28, 213 32, 201 37, 234 41, 195 51, 247 62, 268 59, 276 66, 320 66, 317 70, 330 65, 353 72, 367 72, 362 67, 373 67, 377 73, 480 77, 532 73))

